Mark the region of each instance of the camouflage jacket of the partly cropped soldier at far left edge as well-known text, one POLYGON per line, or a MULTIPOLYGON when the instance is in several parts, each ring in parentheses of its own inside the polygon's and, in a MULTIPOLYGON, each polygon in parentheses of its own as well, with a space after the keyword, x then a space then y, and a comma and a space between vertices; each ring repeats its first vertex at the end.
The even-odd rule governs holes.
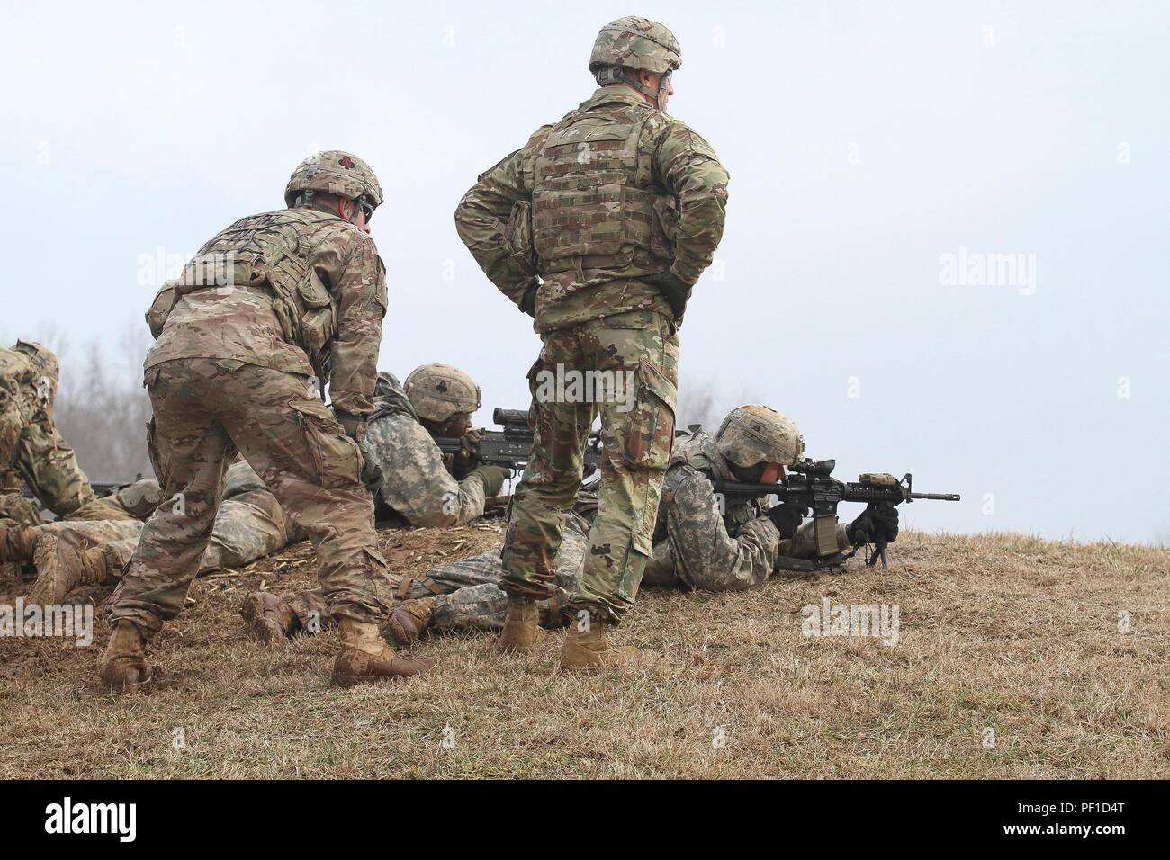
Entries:
POLYGON ((53 421, 58 366, 44 346, 18 340, 0 348, 0 527, 41 522, 21 496, 25 484, 58 517, 92 501, 89 479, 53 421))

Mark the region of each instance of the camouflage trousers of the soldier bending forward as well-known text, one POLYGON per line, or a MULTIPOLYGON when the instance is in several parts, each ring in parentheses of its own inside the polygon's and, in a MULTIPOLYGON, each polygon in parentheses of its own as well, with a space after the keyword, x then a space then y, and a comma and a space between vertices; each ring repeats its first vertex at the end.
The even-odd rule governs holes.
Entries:
POLYGON ((111 622, 147 635, 183 608, 212 536, 229 454, 239 449, 317 551, 333 614, 380 621, 393 600, 362 459, 308 378, 236 360, 147 369, 151 453, 165 501, 110 599, 111 622))

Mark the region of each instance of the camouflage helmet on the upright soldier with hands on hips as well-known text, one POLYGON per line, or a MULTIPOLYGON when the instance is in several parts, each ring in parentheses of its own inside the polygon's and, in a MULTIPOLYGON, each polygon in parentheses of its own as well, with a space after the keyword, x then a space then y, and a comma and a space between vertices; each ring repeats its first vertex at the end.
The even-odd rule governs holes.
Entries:
POLYGON ((619 18, 603 27, 589 59, 589 70, 599 84, 628 84, 654 99, 659 110, 662 109, 662 96, 670 88, 670 73, 680 66, 682 48, 674 34, 658 21, 636 15, 619 18), (644 87, 626 69, 661 73, 662 82, 658 91, 644 87))

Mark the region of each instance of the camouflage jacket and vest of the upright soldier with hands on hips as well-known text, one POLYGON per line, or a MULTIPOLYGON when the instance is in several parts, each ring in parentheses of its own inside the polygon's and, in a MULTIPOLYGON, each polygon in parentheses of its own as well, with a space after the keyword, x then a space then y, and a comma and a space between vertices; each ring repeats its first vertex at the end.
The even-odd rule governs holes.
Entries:
POLYGON ((517 305, 536 293, 538 331, 613 314, 669 314, 642 278, 694 284, 723 235, 728 173, 686 123, 627 87, 598 89, 483 173, 455 225, 517 305))

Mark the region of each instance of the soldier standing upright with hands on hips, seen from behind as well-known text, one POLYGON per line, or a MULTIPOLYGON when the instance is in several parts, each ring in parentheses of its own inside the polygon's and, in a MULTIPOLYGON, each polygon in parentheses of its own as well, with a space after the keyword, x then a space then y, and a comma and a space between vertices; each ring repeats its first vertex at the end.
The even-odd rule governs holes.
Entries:
POLYGON ((601 417, 600 510, 569 603, 576 620, 560 658, 567 669, 636 654, 608 647, 603 625, 618 624, 633 605, 651 552, 674 436, 676 332, 723 235, 727 171, 703 138, 665 112, 681 61, 660 23, 606 25, 589 64, 600 88, 481 176, 455 212, 463 243, 535 317, 544 342, 529 373, 536 439, 503 551, 504 651, 536 640, 536 601, 552 594, 583 449, 601 417), (545 395, 549 374, 597 379, 598 371, 632 379, 632 401, 545 395))

